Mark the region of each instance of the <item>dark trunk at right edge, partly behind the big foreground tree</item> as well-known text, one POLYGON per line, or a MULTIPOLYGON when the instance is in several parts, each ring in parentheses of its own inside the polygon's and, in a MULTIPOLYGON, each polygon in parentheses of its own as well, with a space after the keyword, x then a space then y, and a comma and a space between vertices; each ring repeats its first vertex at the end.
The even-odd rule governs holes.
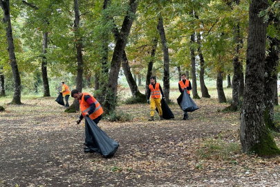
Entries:
POLYGON ((265 106, 263 116, 265 125, 270 130, 277 130, 274 119, 274 94, 277 90, 277 67, 279 60, 279 41, 270 37, 270 48, 268 56, 265 57, 264 78, 263 78, 263 103, 265 106))

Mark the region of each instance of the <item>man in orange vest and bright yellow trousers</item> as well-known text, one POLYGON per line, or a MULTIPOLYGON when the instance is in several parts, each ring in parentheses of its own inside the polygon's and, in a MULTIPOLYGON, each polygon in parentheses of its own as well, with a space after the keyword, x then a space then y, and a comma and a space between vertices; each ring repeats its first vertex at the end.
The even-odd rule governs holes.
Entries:
POLYGON ((165 99, 165 95, 163 94, 163 91, 160 87, 160 83, 156 82, 155 77, 150 78, 151 84, 149 84, 149 92, 148 92, 148 104, 150 104, 151 109, 151 118, 149 118, 149 121, 153 121, 153 115, 155 114, 156 107, 158 108, 158 114, 160 115, 160 120, 163 120, 162 118, 162 109, 160 105, 160 94, 162 95, 162 99, 165 99), (151 96, 151 103, 150 98, 151 96))

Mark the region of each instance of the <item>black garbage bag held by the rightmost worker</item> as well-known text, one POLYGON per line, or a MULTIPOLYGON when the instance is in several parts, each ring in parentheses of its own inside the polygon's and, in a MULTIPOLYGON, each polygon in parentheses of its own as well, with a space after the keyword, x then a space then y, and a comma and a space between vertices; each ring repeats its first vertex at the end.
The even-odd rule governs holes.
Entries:
POLYGON ((192 100, 191 96, 187 94, 187 90, 184 90, 183 93, 177 98, 177 103, 184 112, 194 112, 198 109, 198 106, 196 103, 194 103, 194 100, 192 100))

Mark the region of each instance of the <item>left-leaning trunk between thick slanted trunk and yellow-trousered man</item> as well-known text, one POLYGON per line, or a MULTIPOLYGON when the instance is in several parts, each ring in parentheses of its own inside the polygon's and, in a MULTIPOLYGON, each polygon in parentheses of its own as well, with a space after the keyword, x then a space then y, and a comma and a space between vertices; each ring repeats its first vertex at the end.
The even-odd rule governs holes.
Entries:
POLYGON ((125 51, 122 53, 122 69, 124 70, 125 78, 127 78, 127 83, 129 84, 132 96, 135 98, 141 98, 142 103, 144 103, 146 100, 146 96, 140 93, 136 84, 136 80, 132 77, 132 73, 129 67, 129 61, 127 60, 127 53, 125 53, 125 51))

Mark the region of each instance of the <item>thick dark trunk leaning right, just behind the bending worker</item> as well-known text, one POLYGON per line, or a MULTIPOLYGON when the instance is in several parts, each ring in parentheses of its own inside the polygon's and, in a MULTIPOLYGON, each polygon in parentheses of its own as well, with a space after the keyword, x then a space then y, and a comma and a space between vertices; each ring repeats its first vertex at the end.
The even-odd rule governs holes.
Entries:
POLYGON ((108 91, 106 93, 106 99, 104 103, 104 112, 109 114, 109 112, 115 110, 117 88, 118 88, 118 75, 120 71, 120 65, 122 62, 122 53, 124 51, 125 45, 127 44, 127 37, 129 36, 129 31, 131 29, 133 19, 136 13, 137 2, 136 0, 129 1, 129 10, 127 15, 124 17, 122 22, 122 28, 120 34, 115 44, 113 51, 113 57, 111 61, 111 69, 109 72, 109 82, 108 91))

